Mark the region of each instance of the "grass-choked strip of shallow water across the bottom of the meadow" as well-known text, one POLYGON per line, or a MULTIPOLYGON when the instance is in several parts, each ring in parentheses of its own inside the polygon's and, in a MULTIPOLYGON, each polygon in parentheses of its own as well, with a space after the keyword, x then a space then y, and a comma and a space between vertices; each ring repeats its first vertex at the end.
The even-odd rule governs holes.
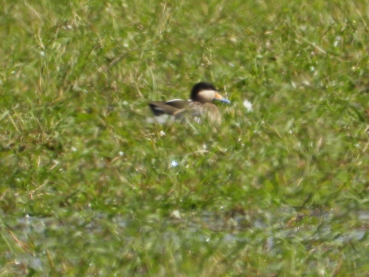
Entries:
MULTIPOLYGON (((350 213, 353 221, 348 226, 340 222, 342 216, 345 215, 335 210, 318 209, 303 213, 296 213, 293 209, 236 212, 231 216, 174 211, 168 218, 148 215, 140 220, 121 215, 107 218, 101 213, 88 217, 75 215, 68 220, 26 216, 7 222, 7 226, 17 240, 25 245, 31 241, 40 252, 17 256, 7 252, 6 259, 13 261, 14 266, 43 271, 45 259, 42 256, 45 256, 45 251, 58 249, 60 243, 69 243, 70 237, 95 241, 98 247, 103 247, 104 244, 101 246, 99 240, 107 240, 107 236, 113 243, 117 239, 124 240, 127 245, 137 244, 138 237, 144 237, 147 243, 156 245, 159 252, 169 242, 176 249, 197 243, 227 247, 259 243, 263 251, 278 252, 276 242, 280 240, 304 242, 307 247, 314 247, 315 242, 320 241, 335 247, 362 240, 368 231, 369 212, 350 213), (338 225, 340 227, 337 229, 338 225)), ((8 240, 14 237, 9 235, 8 240)))

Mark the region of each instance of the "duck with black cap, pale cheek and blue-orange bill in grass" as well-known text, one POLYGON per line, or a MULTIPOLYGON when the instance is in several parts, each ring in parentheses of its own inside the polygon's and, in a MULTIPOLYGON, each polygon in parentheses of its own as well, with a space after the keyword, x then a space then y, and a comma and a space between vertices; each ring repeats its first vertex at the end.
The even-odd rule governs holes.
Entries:
POLYGON ((168 117, 182 118, 184 114, 190 114, 197 119, 206 114, 211 121, 219 122, 220 113, 218 107, 212 103, 213 101, 231 103, 218 93, 212 83, 199 82, 192 87, 188 101, 182 99, 150 101, 148 105, 159 123, 163 123, 168 117))

